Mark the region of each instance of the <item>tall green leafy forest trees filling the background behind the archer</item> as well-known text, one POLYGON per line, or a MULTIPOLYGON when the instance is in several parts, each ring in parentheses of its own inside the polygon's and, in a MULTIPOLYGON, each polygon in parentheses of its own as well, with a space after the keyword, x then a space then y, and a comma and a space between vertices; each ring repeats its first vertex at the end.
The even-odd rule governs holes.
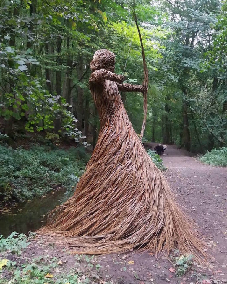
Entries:
MULTIPOLYGON (((116 73, 143 81, 132 2, 1 1, 1 136, 22 129, 95 145, 98 112, 88 87, 94 52, 113 51, 116 73)), ((226 146, 227 1, 134 4, 149 70, 143 140, 194 152, 226 146)), ((140 133, 142 95, 121 98, 140 133)))

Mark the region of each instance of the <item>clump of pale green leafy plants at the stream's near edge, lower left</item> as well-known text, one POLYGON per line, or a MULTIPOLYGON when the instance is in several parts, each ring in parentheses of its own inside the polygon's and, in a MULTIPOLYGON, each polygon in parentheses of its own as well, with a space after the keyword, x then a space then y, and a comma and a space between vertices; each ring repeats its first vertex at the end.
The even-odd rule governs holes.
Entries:
POLYGON ((25 249, 29 244, 28 236, 25 234, 19 235, 17 232, 12 232, 7 238, 0 235, 0 252, 7 251, 20 255, 21 250, 25 249))

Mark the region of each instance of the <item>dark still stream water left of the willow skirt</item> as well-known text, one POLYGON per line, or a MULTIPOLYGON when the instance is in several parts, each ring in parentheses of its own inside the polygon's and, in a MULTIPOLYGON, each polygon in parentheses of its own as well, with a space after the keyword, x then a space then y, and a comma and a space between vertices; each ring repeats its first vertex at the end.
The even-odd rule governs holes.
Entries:
POLYGON ((48 211, 63 203, 72 192, 65 189, 47 194, 46 197, 23 202, 9 207, 8 212, 0 212, 0 235, 7 237, 13 231, 27 234, 45 225, 48 211))

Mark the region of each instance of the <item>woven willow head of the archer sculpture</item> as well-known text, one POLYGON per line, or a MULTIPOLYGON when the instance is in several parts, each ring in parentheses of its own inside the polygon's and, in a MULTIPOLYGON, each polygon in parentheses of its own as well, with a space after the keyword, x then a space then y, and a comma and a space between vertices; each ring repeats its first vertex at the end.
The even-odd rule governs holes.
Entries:
POLYGON ((95 52, 90 63, 92 71, 106 69, 114 72, 115 69, 115 54, 108 49, 99 49, 95 52))

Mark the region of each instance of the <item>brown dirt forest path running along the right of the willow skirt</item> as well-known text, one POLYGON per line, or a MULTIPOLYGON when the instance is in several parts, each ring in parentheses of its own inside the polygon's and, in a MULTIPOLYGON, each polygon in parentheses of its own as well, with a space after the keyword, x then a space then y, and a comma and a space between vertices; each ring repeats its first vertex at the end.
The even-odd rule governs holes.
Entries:
POLYGON ((216 276, 227 279, 227 169, 202 164, 171 146, 165 151, 168 155, 162 156, 168 168, 165 176, 179 203, 197 223, 198 232, 205 236, 208 252, 215 258, 214 272, 222 271, 216 276))

